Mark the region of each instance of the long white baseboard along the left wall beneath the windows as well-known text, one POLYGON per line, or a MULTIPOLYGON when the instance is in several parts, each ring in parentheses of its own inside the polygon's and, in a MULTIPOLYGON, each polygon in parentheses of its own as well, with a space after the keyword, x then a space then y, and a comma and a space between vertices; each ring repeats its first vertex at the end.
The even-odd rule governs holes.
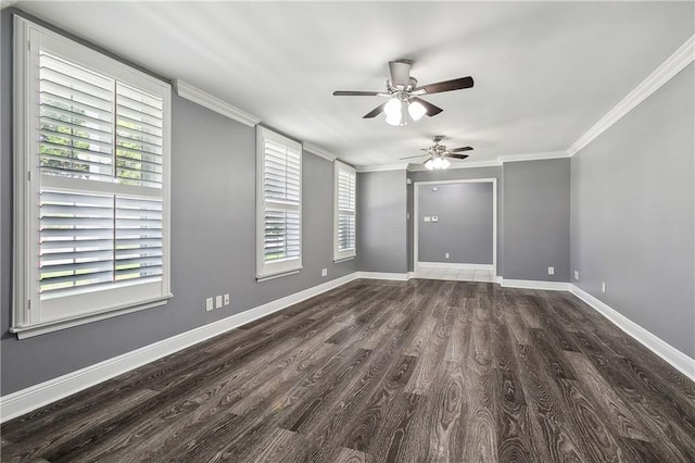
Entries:
MULTIPOLYGON (((88 387, 111 379, 139 366, 154 362, 181 349, 197 345, 212 337, 222 335, 254 320, 286 309, 305 299, 326 292, 330 289, 353 281, 361 276, 355 272, 340 278, 331 279, 318 286, 268 302, 227 318, 193 328, 170 338, 144 346, 130 352, 114 356, 103 362, 77 370, 45 383, 0 397, 0 421, 7 422, 40 406, 71 396, 88 387)), ((386 274, 388 275, 388 274, 386 274)), ((400 275, 400 274, 393 274, 400 275)), ((403 274, 405 275, 405 274, 403 274)), ((389 279, 389 278, 387 278, 389 279)))

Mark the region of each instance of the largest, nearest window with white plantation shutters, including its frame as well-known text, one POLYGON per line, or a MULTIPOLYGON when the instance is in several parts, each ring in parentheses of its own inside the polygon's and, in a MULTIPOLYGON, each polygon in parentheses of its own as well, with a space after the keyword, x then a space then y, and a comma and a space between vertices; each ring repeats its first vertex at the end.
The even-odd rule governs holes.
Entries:
POLYGON ((166 302, 168 84, 15 17, 20 337, 166 302))

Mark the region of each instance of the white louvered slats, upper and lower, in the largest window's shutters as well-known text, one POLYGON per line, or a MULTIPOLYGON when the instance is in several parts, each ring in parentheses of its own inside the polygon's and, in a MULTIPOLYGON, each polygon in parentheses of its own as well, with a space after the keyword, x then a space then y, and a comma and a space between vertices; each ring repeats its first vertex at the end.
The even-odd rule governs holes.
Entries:
POLYGON ((90 183, 161 190, 163 99, 43 50, 39 93, 40 173, 76 182, 70 192, 41 187, 41 299, 161 280, 162 199, 96 193, 90 183))

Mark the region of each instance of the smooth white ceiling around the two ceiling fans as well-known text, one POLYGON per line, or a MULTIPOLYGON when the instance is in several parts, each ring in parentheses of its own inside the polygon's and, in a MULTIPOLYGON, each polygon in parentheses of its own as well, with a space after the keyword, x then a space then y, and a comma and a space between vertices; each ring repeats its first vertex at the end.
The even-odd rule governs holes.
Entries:
MULTIPOLYGON (((18 2, 355 165, 418 154, 432 135, 470 161, 566 150, 694 33, 693 2, 18 2), (390 60, 444 112, 406 127, 362 116, 390 60)), ((466 161, 464 161, 466 162, 466 161)))

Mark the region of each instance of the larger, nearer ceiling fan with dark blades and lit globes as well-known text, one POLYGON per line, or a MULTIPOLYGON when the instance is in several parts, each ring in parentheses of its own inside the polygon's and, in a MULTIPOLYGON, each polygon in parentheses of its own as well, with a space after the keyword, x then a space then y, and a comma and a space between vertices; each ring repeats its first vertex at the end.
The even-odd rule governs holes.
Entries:
POLYGON ((417 79, 410 76, 410 60, 389 62, 390 78, 387 79, 386 91, 333 91, 336 97, 386 97, 389 100, 365 114, 364 118, 376 117, 381 112, 387 113, 387 123, 391 125, 406 125, 407 115, 418 121, 425 114, 433 116, 443 110, 421 99, 421 96, 460 90, 473 86, 473 78, 460 77, 437 84, 417 85, 417 79))

